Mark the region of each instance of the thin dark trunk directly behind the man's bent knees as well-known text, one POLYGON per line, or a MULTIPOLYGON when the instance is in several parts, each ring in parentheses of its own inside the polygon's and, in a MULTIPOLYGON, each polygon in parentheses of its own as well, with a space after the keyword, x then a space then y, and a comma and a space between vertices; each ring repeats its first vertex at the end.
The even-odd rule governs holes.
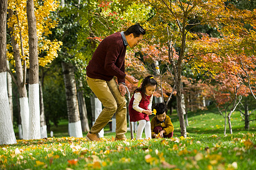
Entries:
POLYGON ((89 122, 87 117, 87 109, 86 104, 84 100, 84 95, 82 95, 82 81, 78 81, 79 88, 77 91, 77 99, 79 101, 79 112, 80 112, 80 119, 81 119, 81 125, 82 125, 82 131, 89 131, 89 122))

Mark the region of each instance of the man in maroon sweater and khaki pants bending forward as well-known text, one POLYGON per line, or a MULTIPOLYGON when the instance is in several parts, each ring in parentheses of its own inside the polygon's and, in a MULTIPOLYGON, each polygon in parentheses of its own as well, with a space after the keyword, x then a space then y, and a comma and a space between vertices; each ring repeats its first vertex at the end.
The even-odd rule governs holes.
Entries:
POLYGON ((137 83, 133 76, 125 74, 126 46, 133 48, 143 39, 146 31, 139 24, 132 25, 125 32, 116 32, 98 45, 86 67, 86 82, 104 105, 104 109, 86 135, 88 141, 100 141, 98 132, 108 124, 115 113, 115 140, 126 140, 125 79, 137 83), (119 86, 114 80, 117 77, 119 86))

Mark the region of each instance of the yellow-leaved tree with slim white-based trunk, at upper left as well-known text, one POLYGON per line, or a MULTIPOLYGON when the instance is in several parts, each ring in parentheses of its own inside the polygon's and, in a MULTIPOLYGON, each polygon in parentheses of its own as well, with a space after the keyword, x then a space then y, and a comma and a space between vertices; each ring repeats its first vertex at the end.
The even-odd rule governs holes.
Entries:
MULTIPOLYGON (((26 0, 10 0, 8 27, 10 28, 11 45, 8 46, 7 56, 10 63, 15 66, 15 75, 12 78, 19 91, 20 116, 22 119, 23 139, 28 139, 29 126, 29 106, 26 90, 26 70, 29 67, 28 59, 28 24, 26 15, 26 0), (12 49, 11 49, 12 48, 12 49), (16 79, 15 79, 16 77, 16 79)), ((57 22, 49 17, 52 11, 55 11, 59 3, 55 0, 36 1, 36 20, 37 37, 40 46, 38 46, 39 65, 46 66, 57 57, 57 50, 60 49, 61 42, 48 40, 51 34, 51 28, 55 27, 57 22)))

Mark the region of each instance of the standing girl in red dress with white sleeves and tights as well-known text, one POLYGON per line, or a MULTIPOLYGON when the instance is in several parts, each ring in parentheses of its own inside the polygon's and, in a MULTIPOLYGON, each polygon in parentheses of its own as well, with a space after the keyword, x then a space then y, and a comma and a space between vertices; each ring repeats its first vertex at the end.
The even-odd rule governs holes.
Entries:
POLYGON ((143 129, 145 128, 146 138, 151 139, 150 119, 153 93, 158 83, 153 76, 148 75, 141 85, 134 91, 133 97, 129 103, 130 122, 139 122, 136 139, 142 138, 143 129))

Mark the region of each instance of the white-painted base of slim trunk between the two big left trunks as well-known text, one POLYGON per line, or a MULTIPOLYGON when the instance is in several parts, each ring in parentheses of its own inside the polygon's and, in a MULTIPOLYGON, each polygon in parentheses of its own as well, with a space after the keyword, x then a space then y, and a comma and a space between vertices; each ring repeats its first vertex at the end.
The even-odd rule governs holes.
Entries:
POLYGON ((28 107, 28 97, 19 98, 20 117, 22 120, 22 136, 23 139, 28 139, 28 128, 30 120, 30 109, 28 107))

